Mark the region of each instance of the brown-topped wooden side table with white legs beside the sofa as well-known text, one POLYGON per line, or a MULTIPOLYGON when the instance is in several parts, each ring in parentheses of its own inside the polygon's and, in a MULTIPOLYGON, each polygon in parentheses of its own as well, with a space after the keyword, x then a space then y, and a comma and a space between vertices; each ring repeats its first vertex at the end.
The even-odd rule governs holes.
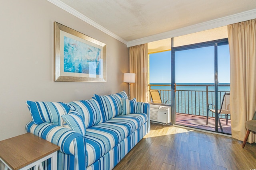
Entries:
POLYGON ((0 141, 0 161, 5 164, 5 170, 27 170, 32 167, 43 170, 42 162, 51 158, 51 169, 56 170, 59 149, 57 145, 26 133, 0 141))

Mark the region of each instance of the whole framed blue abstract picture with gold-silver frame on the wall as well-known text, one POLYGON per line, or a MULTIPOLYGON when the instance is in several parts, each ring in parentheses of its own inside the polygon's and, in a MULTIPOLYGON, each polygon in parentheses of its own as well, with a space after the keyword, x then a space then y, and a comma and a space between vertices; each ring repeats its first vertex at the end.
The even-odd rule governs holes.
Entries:
POLYGON ((106 82, 106 44, 54 22, 54 81, 106 82))

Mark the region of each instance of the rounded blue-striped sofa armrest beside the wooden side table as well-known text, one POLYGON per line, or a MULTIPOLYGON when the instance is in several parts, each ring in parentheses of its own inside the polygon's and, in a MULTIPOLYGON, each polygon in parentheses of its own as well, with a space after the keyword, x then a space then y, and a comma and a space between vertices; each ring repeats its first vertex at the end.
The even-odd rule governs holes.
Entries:
POLYGON ((53 123, 37 125, 33 121, 26 124, 26 131, 58 145, 61 152, 75 157, 79 168, 86 169, 86 141, 80 133, 53 123))

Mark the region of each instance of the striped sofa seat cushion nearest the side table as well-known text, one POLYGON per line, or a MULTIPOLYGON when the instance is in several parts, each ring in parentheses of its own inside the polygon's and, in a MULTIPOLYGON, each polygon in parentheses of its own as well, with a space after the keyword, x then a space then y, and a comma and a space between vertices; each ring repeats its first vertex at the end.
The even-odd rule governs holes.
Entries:
POLYGON ((128 136, 125 125, 101 123, 86 129, 86 155, 89 166, 128 136))

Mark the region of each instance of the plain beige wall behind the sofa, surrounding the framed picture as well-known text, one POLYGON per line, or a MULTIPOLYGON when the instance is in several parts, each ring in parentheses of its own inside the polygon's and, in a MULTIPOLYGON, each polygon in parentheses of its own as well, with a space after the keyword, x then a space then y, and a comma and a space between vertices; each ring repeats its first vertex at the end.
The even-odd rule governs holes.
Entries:
POLYGON ((26 133, 26 100, 71 102, 94 93, 128 91, 129 51, 117 41, 46 0, 0 5, 0 141, 26 133), (54 21, 106 43, 107 82, 54 82, 54 21))

